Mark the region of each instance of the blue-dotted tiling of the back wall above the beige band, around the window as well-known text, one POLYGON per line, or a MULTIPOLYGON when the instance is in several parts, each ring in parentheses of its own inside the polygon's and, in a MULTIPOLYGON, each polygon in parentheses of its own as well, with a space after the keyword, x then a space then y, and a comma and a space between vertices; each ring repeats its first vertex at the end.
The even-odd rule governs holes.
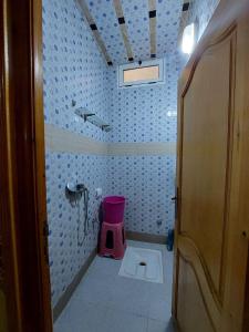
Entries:
POLYGON ((175 142, 177 80, 181 69, 177 56, 165 58, 165 84, 117 87, 117 68, 110 70, 112 86, 110 135, 113 142, 175 142))

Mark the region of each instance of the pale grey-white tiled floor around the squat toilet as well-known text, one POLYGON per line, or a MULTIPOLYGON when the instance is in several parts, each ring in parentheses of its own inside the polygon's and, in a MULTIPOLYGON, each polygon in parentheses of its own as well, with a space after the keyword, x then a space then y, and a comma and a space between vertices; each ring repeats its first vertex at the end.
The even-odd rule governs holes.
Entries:
POLYGON ((120 277, 122 261, 96 257, 54 332, 173 332, 170 321, 173 255, 162 245, 128 241, 160 250, 164 283, 120 277))

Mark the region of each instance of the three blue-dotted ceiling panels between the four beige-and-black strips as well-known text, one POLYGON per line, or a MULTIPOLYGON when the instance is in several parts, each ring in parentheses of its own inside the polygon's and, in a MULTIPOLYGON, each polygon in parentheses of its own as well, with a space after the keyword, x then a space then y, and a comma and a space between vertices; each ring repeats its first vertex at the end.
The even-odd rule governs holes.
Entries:
MULTIPOLYGON (((108 54, 115 64, 127 62, 112 0, 86 0, 108 54)), ((151 58, 148 0, 121 0, 128 38, 135 60, 151 58)), ((183 0, 157 0, 157 56, 164 58, 177 49, 177 33, 183 0)))

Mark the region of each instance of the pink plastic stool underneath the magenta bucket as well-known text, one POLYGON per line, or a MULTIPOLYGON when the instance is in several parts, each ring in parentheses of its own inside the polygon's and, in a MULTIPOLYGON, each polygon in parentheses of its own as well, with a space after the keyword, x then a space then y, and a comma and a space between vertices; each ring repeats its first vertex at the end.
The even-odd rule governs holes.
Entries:
POLYGON ((100 256, 122 259, 126 249, 124 222, 103 222, 101 229, 100 256))

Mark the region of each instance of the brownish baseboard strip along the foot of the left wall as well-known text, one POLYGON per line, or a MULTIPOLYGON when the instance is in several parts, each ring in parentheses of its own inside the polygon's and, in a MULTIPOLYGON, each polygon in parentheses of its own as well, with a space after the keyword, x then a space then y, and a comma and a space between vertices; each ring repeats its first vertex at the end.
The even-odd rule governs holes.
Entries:
POLYGON ((58 303, 55 304, 53 309, 53 321, 55 322, 56 319, 60 317, 62 313, 63 309, 70 301, 72 294, 74 293, 75 289, 77 288, 79 283, 81 282, 82 278, 86 273, 89 267, 93 262, 94 258, 96 257, 97 249, 95 248, 86 259, 85 263, 81 268, 81 270, 77 272, 77 274, 73 278, 73 281, 69 284, 58 303))

